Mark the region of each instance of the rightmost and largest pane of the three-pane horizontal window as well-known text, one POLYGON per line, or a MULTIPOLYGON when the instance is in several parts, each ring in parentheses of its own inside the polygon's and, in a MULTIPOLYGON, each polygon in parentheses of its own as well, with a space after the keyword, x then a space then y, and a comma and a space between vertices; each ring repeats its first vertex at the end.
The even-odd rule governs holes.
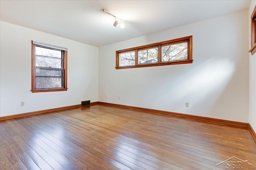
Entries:
POLYGON ((188 59, 188 43, 178 43, 162 47, 162 61, 188 59))

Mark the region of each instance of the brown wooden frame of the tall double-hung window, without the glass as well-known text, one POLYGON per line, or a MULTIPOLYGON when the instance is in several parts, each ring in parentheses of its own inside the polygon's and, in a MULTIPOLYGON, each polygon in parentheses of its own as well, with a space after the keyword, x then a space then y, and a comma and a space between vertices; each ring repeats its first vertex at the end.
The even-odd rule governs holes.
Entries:
POLYGON ((38 93, 38 92, 58 92, 58 91, 67 91, 68 90, 68 51, 64 51, 63 54, 63 78, 64 78, 64 85, 62 88, 36 88, 36 54, 35 54, 36 44, 32 43, 32 93, 38 93))

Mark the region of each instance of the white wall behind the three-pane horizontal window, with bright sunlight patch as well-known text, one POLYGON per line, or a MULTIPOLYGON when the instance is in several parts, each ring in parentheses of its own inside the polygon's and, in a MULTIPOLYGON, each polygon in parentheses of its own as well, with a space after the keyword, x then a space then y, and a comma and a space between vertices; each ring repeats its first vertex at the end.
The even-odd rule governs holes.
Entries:
POLYGON ((99 101, 247 123, 247 18, 243 10, 100 47, 99 101), (117 50, 188 35, 192 64, 115 69, 117 50))

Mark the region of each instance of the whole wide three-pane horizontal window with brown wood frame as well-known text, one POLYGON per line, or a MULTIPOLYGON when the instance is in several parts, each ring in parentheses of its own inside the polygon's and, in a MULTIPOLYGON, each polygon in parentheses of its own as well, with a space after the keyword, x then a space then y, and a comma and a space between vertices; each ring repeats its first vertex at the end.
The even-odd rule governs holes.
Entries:
POLYGON ((116 69, 192 63, 192 35, 116 51, 116 69))

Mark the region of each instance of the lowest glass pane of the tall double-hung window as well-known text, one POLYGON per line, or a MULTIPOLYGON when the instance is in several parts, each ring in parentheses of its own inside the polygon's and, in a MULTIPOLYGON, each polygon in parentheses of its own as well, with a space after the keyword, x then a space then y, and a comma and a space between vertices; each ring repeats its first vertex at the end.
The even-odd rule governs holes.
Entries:
POLYGON ((36 88, 63 87, 63 78, 36 77, 36 88))

